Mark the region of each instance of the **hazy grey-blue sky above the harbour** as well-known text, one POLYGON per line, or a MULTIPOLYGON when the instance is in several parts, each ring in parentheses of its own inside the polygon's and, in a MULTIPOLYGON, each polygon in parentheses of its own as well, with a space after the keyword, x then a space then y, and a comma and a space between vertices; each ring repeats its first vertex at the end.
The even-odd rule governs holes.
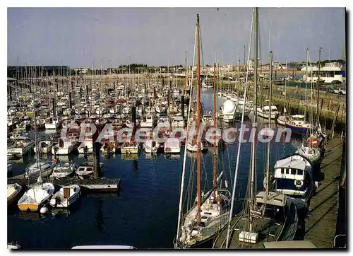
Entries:
MULTIPOLYGON (((204 64, 244 62, 252 8, 8 8, 8 66, 192 64, 196 13, 204 64)), ((263 62, 341 59, 345 8, 258 8, 263 62), (270 43, 269 43, 270 42, 270 43)), ((248 52, 248 50, 246 50, 248 52)))

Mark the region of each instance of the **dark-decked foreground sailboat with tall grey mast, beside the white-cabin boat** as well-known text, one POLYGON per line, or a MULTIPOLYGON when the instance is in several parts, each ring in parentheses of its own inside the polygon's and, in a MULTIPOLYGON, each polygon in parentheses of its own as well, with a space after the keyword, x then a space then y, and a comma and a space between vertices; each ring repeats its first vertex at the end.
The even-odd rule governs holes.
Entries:
MULTIPOLYGON (((258 10, 253 9, 255 24, 255 59, 258 59, 258 10)), ((272 59, 272 52, 270 52, 272 59)), ((270 65, 272 63, 270 62, 270 65)), ((272 65, 271 65, 272 68, 272 65)), ((258 62, 254 67, 254 105, 253 105, 253 129, 257 122, 257 83, 258 62)), ((270 83, 270 105, 272 85, 270 83)), ((268 120, 271 120, 271 108, 268 112, 268 120)), ((267 168, 264 175, 264 191, 256 193, 256 133, 253 133, 251 145, 251 172, 250 181, 246 192, 244 209, 240 214, 230 219, 227 229, 227 237, 220 237, 215 241, 214 248, 258 248, 263 242, 292 240, 297 231, 297 209, 294 203, 287 200, 285 194, 271 191, 270 188, 270 142, 268 142, 267 168), (232 223, 232 225, 231 225, 232 223)), ((239 155, 240 152, 238 152, 239 155)), ((237 161, 238 162, 238 161, 237 161)), ((236 170, 237 172, 237 170, 236 170)), ((234 179, 235 182, 236 179, 234 179)), ((235 186, 234 186, 235 187, 235 186)), ((232 198, 233 199, 233 198, 232 198)), ((232 201, 233 202, 233 201, 232 201)), ((233 205, 233 204, 232 204, 233 205)), ((231 213, 232 214, 232 211, 231 213)))

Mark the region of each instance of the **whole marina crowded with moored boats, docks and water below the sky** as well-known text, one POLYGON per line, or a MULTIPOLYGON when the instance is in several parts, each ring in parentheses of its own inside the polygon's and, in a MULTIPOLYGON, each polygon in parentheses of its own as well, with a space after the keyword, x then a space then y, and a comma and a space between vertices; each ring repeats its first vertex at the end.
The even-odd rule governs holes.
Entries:
POLYGON ((185 65, 17 57, 8 248, 347 248, 345 54, 280 64, 269 45, 265 64, 262 11, 247 14, 243 65, 203 63, 196 13, 185 65))

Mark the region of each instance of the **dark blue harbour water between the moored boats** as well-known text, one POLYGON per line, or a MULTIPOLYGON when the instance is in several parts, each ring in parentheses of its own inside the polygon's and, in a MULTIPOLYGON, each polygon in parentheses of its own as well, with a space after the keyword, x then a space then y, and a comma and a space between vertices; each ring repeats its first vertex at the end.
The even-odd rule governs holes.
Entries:
MULTIPOLYGON (((203 90, 202 95, 208 112, 212 109, 212 90, 203 90)), ((251 151, 251 144, 242 145, 236 190, 239 204, 244 202, 251 151)), ((272 168, 278 158, 294 152, 298 145, 297 139, 290 143, 272 143, 272 168)), ((258 189, 263 182, 265 150, 265 144, 256 147, 258 189)), ((163 155, 148 158, 143 152, 138 160, 124 160, 121 155, 102 158, 104 175, 121 178, 119 194, 83 194, 72 209, 55 216, 22 213, 15 206, 8 210, 8 242, 18 241, 23 249, 70 249, 75 245, 172 248, 177 233, 183 156, 181 151, 176 158, 163 155)), ((212 185, 212 156, 212 151, 202 156, 201 184, 205 186, 204 192, 212 185)), ((196 166, 195 160, 190 161, 190 153, 187 157, 186 182, 189 181, 190 165, 196 166)), ((227 178, 229 185, 233 183, 236 159, 237 143, 218 152, 217 168, 225 172, 223 177, 227 178)), ((73 160, 79 163, 83 158, 73 160)), ((15 163, 13 175, 23 173, 28 161, 15 163)), ((193 187, 196 187, 196 168, 193 178, 193 187)))

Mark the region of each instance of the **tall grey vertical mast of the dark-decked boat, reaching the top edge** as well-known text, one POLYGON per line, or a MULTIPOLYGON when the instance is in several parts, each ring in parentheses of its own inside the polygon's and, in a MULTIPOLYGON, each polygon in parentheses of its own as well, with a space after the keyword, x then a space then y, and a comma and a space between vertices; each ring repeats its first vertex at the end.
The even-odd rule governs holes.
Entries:
MULTIPOLYGON (((254 9, 254 28, 255 28, 255 44, 254 44, 254 78, 253 78, 253 142, 251 147, 251 187, 250 187, 250 210, 253 209, 253 198, 255 194, 255 169, 256 169, 256 122, 257 122, 257 93, 258 93, 258 8, 254 9)), ((252 231, 252 219, 249 219, 249 231, 252 231)))

